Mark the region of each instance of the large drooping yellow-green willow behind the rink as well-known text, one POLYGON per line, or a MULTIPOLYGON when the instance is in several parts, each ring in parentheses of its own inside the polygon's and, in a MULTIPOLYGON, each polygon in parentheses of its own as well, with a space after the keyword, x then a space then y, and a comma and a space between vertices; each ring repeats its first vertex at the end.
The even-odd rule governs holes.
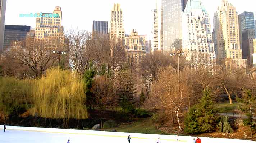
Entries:
POLYGON ((33 91, 34 113, 55 119, 86 119, 84 83, 68 70, 52 68, 37 80, 33 91))

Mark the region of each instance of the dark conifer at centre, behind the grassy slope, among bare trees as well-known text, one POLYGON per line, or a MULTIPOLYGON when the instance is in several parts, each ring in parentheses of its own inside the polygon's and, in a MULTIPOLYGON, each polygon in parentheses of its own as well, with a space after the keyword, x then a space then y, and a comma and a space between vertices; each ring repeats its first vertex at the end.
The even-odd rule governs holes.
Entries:
POLYGON ((132 75, 124 73, 120 78, 119 90, 117 92, 119 105, 123 111, 128 112, 133 108, 135 93, 136 87, 132 75))

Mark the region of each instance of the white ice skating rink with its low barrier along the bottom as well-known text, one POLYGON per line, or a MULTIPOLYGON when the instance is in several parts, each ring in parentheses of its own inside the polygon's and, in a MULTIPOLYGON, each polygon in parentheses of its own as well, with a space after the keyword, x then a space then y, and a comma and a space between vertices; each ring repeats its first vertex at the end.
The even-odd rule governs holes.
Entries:
MULTIPOLYGON (((152 135, 137 133, 103 132, 90 130, 69 130, 50 128, 31 128, 0 126, 0 143, 128 143, 127 137, 131 135, 131 143, 192 143, 196 137, 182 137, 172 135, 152 135)), ((201 138, 202 143, 256 143, 248 140, 201 138)))

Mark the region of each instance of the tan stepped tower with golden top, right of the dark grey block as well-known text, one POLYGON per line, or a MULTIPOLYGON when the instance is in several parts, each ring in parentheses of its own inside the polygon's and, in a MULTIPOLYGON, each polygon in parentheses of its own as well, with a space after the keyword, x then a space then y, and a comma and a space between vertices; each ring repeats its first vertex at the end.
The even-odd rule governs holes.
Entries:
POLYGON ((116 38, 124 38, 124 12, 120 3, 115 3, 111 10, 111 18, 109 22, 109 35, 116 38))

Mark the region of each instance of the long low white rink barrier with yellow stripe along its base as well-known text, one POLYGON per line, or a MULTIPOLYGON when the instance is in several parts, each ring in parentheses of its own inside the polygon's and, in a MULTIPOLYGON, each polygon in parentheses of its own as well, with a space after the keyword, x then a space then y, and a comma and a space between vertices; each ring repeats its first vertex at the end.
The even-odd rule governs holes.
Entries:
MULTIPOLYGON (((0 125, 0 129, 4 126, 0 125)), ((157 135, 157 134, 139 134, 139 133, 123 133, 123 132, 105 132, 105 131, 93 131, 93 130, 73 130, 73 129, 55 129, 55 128, 36 128, 36 127, 17 127, 17 126, 6 126, 8 130, 20 130, 27 132, 44 132, 44 133, 57 133, 57 134, 78 134, 78 135, 91 135, 91 136, 103 136, 103 137, 116 137, 116 138, 127 138, 131 135, 132 138, 142 140, 157 140, 160 137, 161 140, 179 143, 192 143, 193 138, 191 136, 175 136, 175 135, 157 135)), ((199 137, 202 143, 256 143, 250 140, 238 140, 238 139, 224 139, 224 138, 205 138, 199 137)))

